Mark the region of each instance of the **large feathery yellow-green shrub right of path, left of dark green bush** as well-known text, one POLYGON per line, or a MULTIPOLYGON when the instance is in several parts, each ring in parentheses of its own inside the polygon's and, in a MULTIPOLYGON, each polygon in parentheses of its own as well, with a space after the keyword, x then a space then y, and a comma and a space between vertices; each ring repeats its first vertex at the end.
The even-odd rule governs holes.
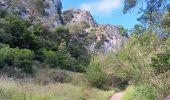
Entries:
POLYGON ((149 82, 153 71, 149 66, 151 57, 164 51, 166 43, 156 34, 148 33, 132 35, 125 47, 109 62, 116 76, 129 78, 132 84, 149 82))

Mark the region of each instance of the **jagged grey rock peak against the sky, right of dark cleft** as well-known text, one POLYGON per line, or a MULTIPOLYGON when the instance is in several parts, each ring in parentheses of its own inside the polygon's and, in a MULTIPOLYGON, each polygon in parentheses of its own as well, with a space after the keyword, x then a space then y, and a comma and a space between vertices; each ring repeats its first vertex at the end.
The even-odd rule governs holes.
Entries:
POLYGON ((82 21, 88 23, 91 27, 96 27, 97 23, 89 11, 80 9, 70 9, 63 12, 63 21, 65 24, 75 24, 82 21))

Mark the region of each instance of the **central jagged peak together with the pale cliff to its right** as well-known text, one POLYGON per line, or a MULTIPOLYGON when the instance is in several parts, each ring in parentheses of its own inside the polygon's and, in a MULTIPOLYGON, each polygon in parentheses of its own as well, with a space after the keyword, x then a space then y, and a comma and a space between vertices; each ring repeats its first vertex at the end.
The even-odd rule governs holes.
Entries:
MULTIPOLYGON (((90 27, 84 27, 80 30, 77 27, 77 31, 74 33, 87 32, 90 33, 87 38, 91 39, 91 42, 86 45, 88 51, 91 53, 100 52, 108 53, 109 51, 116 52, 121 49, 123 46, 126 37, 121 35, 121 32, 118 27, 105 24, 97 24, 95 19, 92 17, 90 12, 84 10, 70 9, 64 11, 63 21, 66 25, 78 25, 79 27, 85 26, 82 25, 82 22, 89 24, 90 27)), ((76 36, 77 41, 85 41, 82 37, 76 36)))

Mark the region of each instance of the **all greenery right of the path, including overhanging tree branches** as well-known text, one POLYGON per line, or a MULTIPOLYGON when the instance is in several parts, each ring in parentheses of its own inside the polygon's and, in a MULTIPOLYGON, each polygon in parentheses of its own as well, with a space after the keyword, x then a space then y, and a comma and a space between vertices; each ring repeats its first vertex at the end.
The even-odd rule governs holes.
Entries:
POLYGON ((109 57, 117 77, 128 81, 124 100, 164 99, 170 94, 170 38, 168 0, 125 0, 124 13, 143 2, 142 16, 124 48, 109 57), (138 4, 139 3, 139 4, 138 4))

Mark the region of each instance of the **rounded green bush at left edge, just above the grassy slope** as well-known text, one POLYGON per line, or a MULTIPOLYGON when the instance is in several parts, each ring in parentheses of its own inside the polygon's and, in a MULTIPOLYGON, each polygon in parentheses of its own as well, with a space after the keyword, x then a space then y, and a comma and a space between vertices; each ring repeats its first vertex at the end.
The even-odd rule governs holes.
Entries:
POLYGON ((0 67, 18 68, 26 73, 32 73, 32 63, 34 54, 27 49, 1 48, 0 49, 0 67))

